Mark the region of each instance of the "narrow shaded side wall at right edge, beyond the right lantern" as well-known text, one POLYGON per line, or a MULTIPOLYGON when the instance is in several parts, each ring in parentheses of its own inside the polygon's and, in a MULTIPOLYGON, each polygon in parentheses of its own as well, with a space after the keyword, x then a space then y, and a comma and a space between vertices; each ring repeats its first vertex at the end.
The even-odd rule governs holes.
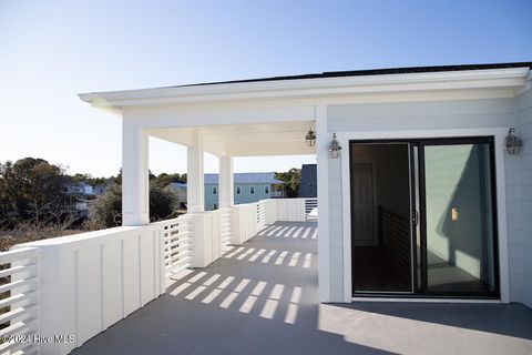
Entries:
MULTIPOLYGON (((530 81, 529 81, 530 84, 530 81)), ((512 156, 512 216, 509 225, 513 225, 515 241, 510 244, 510 256, 514 261, 512 277, 521 280, 514 285, 522 303, 532 307, 532 90, 516 98, 518 134, 523 140, 519 156, 512 156)), ((509 179, 510 181, 510 179, 509 179)))

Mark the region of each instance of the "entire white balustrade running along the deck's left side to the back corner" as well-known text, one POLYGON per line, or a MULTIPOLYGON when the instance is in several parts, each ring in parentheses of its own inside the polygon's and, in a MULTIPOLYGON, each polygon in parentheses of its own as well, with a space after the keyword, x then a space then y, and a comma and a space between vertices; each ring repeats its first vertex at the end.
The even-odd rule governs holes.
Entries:
POLYGON ((262 200, 16 245, 0 253, 0 335, 72 342, 4 342, 0 353, 68 354, 163 294, 173 273, 209 265, 276 221, 305 221, 309 200, 262 200))

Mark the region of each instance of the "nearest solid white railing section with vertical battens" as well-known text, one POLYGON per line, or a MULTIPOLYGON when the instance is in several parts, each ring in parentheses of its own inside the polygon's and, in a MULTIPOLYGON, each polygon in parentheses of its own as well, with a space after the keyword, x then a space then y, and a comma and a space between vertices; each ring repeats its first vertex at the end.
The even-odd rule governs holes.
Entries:
POLYGON ((42 343, 41 353, 68 354, 165 292, 166 224, 121 226, 13 246, 14 252, 37 248, 41 255, 38 335, 72 339, 42 343))

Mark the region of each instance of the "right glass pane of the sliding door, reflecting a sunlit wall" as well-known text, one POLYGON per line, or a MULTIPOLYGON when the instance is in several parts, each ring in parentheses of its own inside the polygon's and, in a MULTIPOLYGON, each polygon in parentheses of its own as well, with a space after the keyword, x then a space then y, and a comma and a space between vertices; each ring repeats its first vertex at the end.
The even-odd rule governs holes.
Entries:
POLYGON ((427 145, 429 293, 495 291, 490 145, 427 145))

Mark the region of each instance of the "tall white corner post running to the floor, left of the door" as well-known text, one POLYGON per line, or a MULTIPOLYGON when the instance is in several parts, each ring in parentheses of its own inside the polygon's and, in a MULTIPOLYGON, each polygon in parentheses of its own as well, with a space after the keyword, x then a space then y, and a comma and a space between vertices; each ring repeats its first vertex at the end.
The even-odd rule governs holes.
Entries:
POLYGON ((316 106, 316 153, 318 179, 318 288, 319 301, 330 301, 330 247, 329 247, 329 134, 327 133, 327 106, 316 106))

